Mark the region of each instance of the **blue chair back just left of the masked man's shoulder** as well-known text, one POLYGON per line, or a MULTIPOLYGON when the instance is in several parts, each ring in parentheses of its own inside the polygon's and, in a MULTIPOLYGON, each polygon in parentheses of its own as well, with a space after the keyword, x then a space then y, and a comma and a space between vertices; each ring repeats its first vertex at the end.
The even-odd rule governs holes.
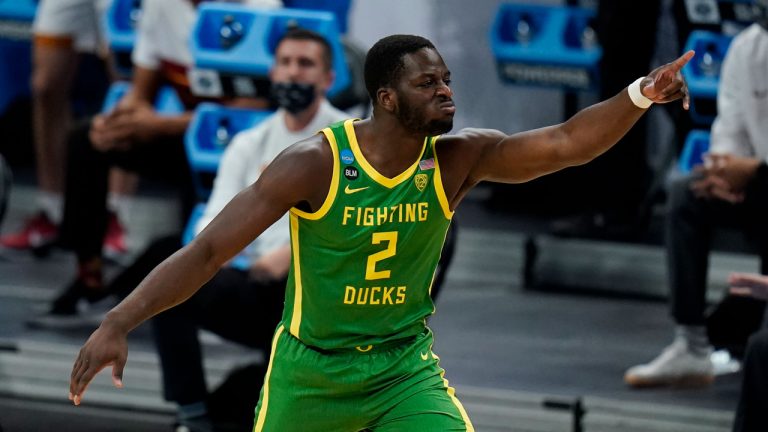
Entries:
POLYGON ((257 125, 270 114, 271 111, 227 108, 209 102, 197 107, 184 134, 184 146, 201 201, 211 194, 221 156, 232 137, 257 125))

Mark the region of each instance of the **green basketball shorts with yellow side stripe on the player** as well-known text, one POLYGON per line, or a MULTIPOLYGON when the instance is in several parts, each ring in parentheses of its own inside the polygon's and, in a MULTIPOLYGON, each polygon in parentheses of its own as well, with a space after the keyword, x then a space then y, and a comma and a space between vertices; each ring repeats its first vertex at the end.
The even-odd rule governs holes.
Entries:
POLYGON ((432 332, 368 351, 321 351, 281 325, 255 432, 474 431, 432 353, 432 332))

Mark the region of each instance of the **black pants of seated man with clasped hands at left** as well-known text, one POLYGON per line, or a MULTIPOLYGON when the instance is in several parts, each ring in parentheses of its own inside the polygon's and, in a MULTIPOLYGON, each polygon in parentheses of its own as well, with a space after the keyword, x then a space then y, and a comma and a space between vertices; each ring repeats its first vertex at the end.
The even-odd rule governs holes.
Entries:
POLYGON ((120 167, 168 182, 179 190, 182 224, 194 205, 194 189, 183 137, 137 145, 128 151, 100 152, 88 138, 90 121, 78 126, 69 141, 64 195, 62 244, 82 262, 101 256, 107 230, 109 170, 120 167))

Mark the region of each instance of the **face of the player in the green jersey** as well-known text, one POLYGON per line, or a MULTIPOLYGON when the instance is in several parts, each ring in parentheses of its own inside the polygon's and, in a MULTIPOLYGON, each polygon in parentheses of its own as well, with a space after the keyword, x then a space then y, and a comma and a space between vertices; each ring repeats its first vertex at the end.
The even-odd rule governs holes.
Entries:
POLYGON ((453 128, 451 72, 440 54, 422 49, 403 57, 404 69, 397 84, 395 115, 406 129, 439 135, 453 128))

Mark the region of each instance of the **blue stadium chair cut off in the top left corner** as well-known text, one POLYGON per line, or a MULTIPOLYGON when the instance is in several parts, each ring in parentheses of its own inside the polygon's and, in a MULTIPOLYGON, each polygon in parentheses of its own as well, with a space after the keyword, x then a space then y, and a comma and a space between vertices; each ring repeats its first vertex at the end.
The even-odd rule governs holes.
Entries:
POLYGON ((29 96, 32 21, 36 0, 0 0, 0 114, 29 96))

